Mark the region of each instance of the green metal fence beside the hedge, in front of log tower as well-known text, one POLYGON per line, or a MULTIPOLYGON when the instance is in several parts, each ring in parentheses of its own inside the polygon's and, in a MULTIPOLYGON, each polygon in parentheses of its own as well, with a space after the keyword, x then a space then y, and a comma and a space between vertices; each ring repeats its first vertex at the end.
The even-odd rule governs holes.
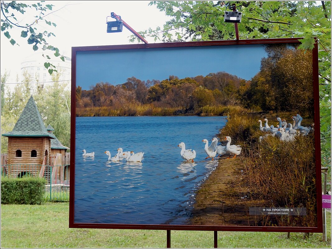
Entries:
POLYGON ((61 164, 61 154, 54 158, 54 165, 4 164, 1 165, 1 176, 11 178, 42 177, 46 180, 45 201, 66 202, 69 201, 69 161, 70 153, 66 153, 65 164, 61 164))

